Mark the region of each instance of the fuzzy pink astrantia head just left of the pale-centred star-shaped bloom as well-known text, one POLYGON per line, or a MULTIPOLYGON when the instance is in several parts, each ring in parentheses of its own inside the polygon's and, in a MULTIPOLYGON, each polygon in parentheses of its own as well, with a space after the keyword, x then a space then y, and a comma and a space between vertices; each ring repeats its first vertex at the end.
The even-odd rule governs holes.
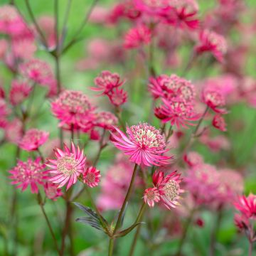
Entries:
POLYGON ((11 184, 18 184, 17 188, 21 188, 22 191, 30 185, 32 193, 38 193, 38 185, 42 185, 48 178, 40 158, 35 161, 28 159, 26 162, 18 160, 18 164, 9 172, 13 180, 11 184))

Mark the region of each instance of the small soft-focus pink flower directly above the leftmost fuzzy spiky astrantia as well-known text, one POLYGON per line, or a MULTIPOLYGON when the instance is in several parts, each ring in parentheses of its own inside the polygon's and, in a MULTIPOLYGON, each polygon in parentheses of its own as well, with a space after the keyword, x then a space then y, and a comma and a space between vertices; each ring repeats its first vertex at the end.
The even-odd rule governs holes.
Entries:
POLYGON ((18 146, 26 151, 37 150, 39 146, 42 146, 47 141, 48 137, 48 132, 29 129, 21 139, 21 142, 18 143, 18 146))

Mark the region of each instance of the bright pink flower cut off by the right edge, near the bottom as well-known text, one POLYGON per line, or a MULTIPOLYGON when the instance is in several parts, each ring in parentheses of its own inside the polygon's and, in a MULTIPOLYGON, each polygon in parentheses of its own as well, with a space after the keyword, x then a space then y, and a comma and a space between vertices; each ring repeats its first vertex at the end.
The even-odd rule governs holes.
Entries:
POLYGON ((234 206, 247 218, 256 219, 256 196, 250 193, 249 196, 239 196, 234 206))

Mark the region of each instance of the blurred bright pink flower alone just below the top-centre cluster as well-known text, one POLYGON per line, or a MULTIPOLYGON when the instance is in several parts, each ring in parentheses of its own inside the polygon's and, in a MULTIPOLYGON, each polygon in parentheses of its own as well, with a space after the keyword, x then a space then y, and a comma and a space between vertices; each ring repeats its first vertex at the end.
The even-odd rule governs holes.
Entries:
POLYGON ((124 36, 124 48, 139 48, 149 44, 151 41, 151 31, 144 24, 131 28, 124 36))

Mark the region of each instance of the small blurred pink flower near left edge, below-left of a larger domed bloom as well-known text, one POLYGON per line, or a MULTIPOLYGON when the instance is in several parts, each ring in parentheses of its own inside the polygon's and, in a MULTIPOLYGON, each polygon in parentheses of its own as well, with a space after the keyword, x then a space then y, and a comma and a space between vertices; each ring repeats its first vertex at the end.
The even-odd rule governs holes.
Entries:
POLYGON ((16 106, 21 104, 30 95, 32 87, 28 82, 13 80, 11 82, 10 102, 16 106))

